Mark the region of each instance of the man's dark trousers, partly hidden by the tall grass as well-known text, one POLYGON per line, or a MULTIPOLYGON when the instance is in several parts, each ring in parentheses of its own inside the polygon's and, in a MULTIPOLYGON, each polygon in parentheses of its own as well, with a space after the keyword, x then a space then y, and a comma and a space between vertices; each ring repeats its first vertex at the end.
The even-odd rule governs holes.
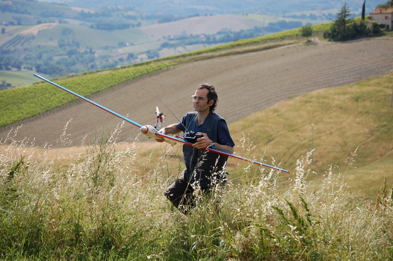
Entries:
MULTIPOLYGON (((220 190, 224 188, 224 183, 220 184, 220 190)), ((184 214, 187 214, 190 209, 194 208, 196 205, 197 198, 194 195, 193 186, 184 179, 182 175, 173 183, 171 183, 164 195, 169 199, 169 201, 179 209, 184 214)), ((205 188, 200 188, 200 192, 203 197, 209 197, 211 194, 211 185, 205 188)))

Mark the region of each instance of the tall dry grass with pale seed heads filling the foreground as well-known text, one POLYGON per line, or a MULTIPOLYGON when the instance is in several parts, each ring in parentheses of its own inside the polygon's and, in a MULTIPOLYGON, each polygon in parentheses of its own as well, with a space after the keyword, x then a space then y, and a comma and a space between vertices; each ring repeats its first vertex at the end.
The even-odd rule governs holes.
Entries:
MULTIPOLYGON (((332 166, 310 190, 308 154, 289 178, 245 166, 243 180, 229 180, 212 195, 218 201, 201 197, 186 216, 163 195, 183 169, 178 148, 142 158, 135 143, 116 149, 121 129, 97 130, 65 165, 58 165, 61 155, 33 153, 33 142, 18 140, 17 130, 8 136, 11 145, 0 147, 1 259, 393 258, 393 192, 386 183, 371 204, 344 189, 346 174, 332 166)), ((67 146, 66 128, 59 142, 67 146)))

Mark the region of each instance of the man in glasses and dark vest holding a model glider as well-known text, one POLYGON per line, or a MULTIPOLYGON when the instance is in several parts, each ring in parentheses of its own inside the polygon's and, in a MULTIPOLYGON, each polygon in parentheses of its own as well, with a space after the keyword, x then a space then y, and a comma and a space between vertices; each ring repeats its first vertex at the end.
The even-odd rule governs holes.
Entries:
MULTIPOLYGON (((220 188, 226 180, 226 156, 205 150, 214 148, 233 154, 235 146, 230 137, 225 120, 214 113, 218 103, 218 95, 213 85, 199 84, 194 95, 194 112, 188 112, 177 124, 169 125, 159 132, 178 134, 179 132, 195 132, 201 135, 193 146, 183 145, 183 156, 186 169, 183 174, 167 187, 165 196, 183 213, 187 213, 196 204, 194 192, 200 188, 203 195, 208 196, 216 186, 220 188)), ((163 142, 164 139, 156 139, 163 142)))

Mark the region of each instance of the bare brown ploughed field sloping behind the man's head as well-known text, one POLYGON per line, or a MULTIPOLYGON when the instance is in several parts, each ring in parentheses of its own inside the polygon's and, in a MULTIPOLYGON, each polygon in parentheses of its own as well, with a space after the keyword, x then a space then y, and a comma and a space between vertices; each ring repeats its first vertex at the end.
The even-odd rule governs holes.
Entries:
MULTIPOLYGON (((142 87, 159 97, 180 119, 192 110, 190 96, 197 84, 210 82, 219 93, 216 112, 230 123, 313 90, 387 74, 393 69, 392 51, 393 38, 385 37, 348 43, 317 42, 232 55, 178 66, 124 83, 89 99, 121 115, 129 115, 142 125, 154 125, 155 107, 159 106, 166 115, 164 126, 167 126, 177 120, 142 87)), ((92 139, 94 130, 102 127, 103 122, 105 125, 119 122, 117 117, 80 101, 24 121, 18 140, 28 137, 30 142, 34 139, 35 145, 58 146, 60 143, 56 145, 56 141, 71 118, 66 132, 71 134, 68 138, 75 146, 80 145, 86 134, 92 139)), ((11 127, 0 129, 0 138, 4 140, 11 127)), ((138 131, 126 124, 120 140, 130 141, 138 131)), ((140 139, 145 140, 145 137, 140 139)))

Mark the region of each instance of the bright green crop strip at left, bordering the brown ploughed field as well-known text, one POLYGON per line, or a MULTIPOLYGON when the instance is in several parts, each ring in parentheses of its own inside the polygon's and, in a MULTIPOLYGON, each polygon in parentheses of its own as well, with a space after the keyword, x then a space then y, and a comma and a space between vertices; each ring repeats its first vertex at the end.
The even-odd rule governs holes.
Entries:
MULTIPOLYGON (((82 96, 113 87, 124 81, 161 70, 168 64, 142 65, 95 74, 70 76, 56 80, 56 83, 82 96)), ((31 76, 33 77, 33 76, 31 76)), ((59 91, 49 83, 39 83, 27 87, 0 92, 0 127, 36 116, 50 109, 62 106, 78 98, 59 91)))

